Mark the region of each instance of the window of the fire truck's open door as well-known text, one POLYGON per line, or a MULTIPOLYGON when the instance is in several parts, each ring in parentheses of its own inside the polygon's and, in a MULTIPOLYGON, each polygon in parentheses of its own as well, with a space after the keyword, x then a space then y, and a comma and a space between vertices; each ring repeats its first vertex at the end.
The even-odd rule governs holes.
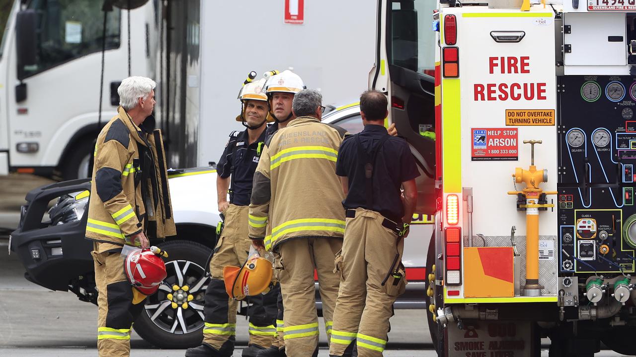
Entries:
POLYGON ((436 36, 432 18, 436 6, 437 1, 431 0, 392 1, 389 64, 433 76, 436 36))

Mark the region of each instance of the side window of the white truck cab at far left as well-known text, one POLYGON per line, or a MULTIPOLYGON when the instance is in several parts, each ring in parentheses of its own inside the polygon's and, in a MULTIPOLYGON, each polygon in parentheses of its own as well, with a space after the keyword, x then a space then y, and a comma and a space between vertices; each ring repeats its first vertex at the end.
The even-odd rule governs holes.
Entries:
MULTIPOLYGON (((45 71, 75 58, 102 50, 103 1, 34 0, 29 8, 38 13, 37 64, 25 74, 45 71)), ((120 46, 121 10, 107 15, 106 50, 120 46)))

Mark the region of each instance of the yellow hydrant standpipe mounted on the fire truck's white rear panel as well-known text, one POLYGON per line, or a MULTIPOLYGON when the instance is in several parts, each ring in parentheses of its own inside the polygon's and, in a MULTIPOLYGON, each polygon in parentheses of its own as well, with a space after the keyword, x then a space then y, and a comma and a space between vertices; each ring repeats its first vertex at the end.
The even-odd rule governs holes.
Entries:
POLYGON ((523 140, 523 144, 532 145, 530 155, 530 167, 528 170, 515 168, 513 177, 517 184, 525 183, 522 191, 508 191, 508 194, 517 196, 517 210, 525 211, 526 234, 526 259, 525 259, 525 285, 522 286, 524 296, 540 296, 543 286, 539 285, 539 211, 554 207, 546 199, 547 194, 556 192, 544 192, 539 184, 548 182, 548 170, 537 169, 534 165, 534 145, 541 144, 541 140, 523 140))

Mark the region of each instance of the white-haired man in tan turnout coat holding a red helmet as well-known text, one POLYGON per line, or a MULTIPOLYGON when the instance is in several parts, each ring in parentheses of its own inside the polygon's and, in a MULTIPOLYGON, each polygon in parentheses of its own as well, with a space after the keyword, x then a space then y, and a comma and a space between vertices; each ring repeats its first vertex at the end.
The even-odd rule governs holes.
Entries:
POLYGON ((161 131, 143 125, 155 106, 154 88, 146 77, 121 81, 117 115, 95 145, 86 238, 93 240, 99 291, 99 356, 130 355, 130 328, 144 308, 124 273, 122 247, 146 248, 148 238, 176 234, 161 131))

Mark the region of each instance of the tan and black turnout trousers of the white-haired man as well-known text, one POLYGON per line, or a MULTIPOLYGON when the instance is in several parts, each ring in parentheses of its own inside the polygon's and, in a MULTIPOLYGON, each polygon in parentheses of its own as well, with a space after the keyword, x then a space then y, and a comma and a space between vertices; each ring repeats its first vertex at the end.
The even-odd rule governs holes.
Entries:
POLYGON ((145 300, 132 304, 132 285, 123 271, 121 247, 93 243, 97 297, 97 351, 99 357, 130 356, 132 323, 145 300))

